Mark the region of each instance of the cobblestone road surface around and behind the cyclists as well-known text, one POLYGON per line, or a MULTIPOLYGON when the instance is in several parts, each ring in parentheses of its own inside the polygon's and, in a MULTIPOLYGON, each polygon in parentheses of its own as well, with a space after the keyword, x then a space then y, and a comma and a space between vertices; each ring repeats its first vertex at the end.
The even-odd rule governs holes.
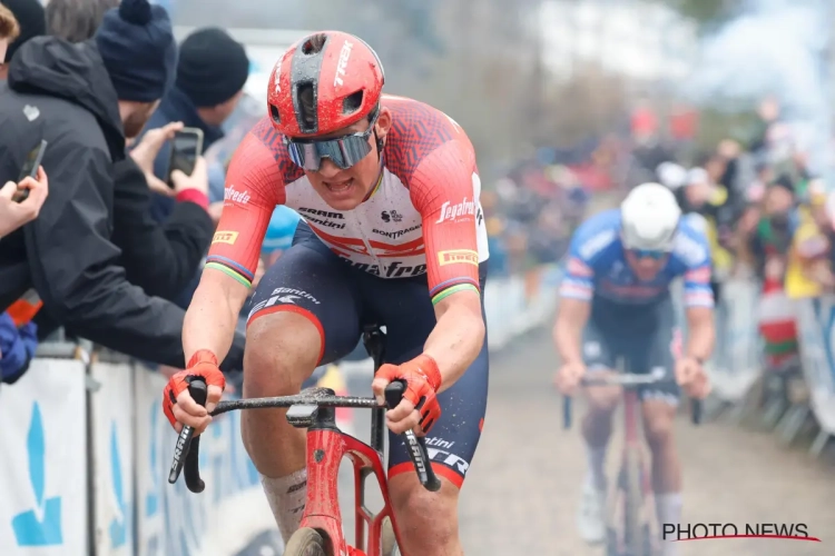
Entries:
MULTIPOLYGON (((602 548, 584 545, 576 530, 586 456, 577 427, 561 428, 559 399, 550 387, 553 367, 546 334, 520 340, 514 354, 492 359, 484 434, 462 492, 460 519, 468 556, 603 555, 602 548)), ((367 384, 355 377, 348 387, 353 394, 366 394, 367 384)), ((366 413, 355 419, 365 438, 366 413)), ((682 543, 681 556, 835 554, 834 468, 803 451, 778 447, 769 435, 730 424, 697 428, 682 418, 677 444, 685 466, 685 524, 733 523, 741 529, 750 523, 805 523, 812 536, 823 539, 697 540, 682 543)), ((609 450, 610 476, 617 448, 616 436, 609 450)), ((344 465, 343 494, 351 492, 350 477, 344 465)), ((346 530, 353 532, 350 496, 342 502, 346 530)), ((264 553, 247 556, 255 554, 264 553)))

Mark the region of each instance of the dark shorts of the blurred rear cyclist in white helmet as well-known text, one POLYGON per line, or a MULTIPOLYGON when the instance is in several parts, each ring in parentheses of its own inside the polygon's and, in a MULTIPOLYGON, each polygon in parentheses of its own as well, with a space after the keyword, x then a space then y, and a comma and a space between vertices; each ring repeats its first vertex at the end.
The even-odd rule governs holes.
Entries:
MULTIPOLYGON (((674 371, 681 336, 669 298, 646 307, 619 307, 592 311, 582 338, 582 355, 589 371, 616 369, 622 358, 627 373, 647 374, 656 368, 674 371)), ((675 380, 638 389, 641 400, 661 399, 677 405, 680 389, 675 380)))

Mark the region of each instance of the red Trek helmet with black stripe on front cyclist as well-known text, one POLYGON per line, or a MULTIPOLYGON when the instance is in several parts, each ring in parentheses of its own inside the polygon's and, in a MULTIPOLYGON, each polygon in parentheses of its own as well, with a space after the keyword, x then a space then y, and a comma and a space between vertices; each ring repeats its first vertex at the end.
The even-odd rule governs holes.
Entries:
POLYGON ((358 37, 341 31, 305 37, 269 76, 273 127, 293 138, 333 133, 374 111, 384 81, 380 57, 358 37))

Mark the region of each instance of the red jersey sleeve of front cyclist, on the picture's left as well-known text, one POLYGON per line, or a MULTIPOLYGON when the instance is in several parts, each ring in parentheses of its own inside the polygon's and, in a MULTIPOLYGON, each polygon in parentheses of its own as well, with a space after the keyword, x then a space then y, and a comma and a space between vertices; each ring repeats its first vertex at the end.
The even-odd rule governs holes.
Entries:
POLYGON ((206 268, 252 287, 269 219, 284 197, 284 181, 273 151, 257 136, 247 133, 226 172, 223 215, 206 268))

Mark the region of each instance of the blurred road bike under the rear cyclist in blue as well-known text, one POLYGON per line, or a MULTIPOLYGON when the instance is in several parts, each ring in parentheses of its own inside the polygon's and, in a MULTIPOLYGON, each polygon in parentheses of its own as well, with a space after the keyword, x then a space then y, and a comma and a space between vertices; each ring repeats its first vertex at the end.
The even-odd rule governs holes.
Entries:
MULTIPOLYGON (((623 364, 618 364, 623 369, 623 364)), ((658 547, 652 542, 660 538, 652 536, 658 532, 655 525, 655 509, 650 504, 652 487, 649 468, 645 457, 640 433, 640 400, 638 389, 641 386, 659 385, 675 380, 664 369, 646 375, 618 373, 615 375, 587 375, 580 386, 619 386, 623 389, 623 457, 618 473, 617 487, 607 495, 606 516, 606 556, 654 556, 658 547), (620 518, 618 518, 620 516, 620 518)), ((562 401, 563 426, 571 428, 571 398, 564 396, 562 401)), ((701 400, 691 399, 691 420, 701 423, 701 400)))

